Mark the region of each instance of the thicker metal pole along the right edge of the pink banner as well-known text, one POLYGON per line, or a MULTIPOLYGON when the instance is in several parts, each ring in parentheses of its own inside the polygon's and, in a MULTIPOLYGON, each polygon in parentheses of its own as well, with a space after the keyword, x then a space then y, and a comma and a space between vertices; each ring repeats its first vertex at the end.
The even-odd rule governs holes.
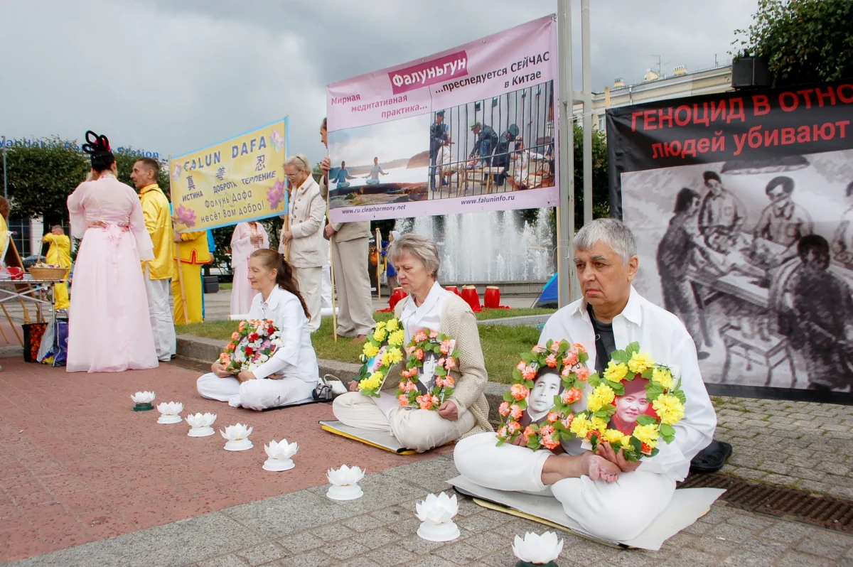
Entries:
POLYGON ((575 159, 572 132, 572 0, 558 0, 557 37, 560 43, 560 214, 557 243, 557 288, 560 307, 572 303, 572 282, 577 281, 575 264, 569 258, 575 234, 575 159))

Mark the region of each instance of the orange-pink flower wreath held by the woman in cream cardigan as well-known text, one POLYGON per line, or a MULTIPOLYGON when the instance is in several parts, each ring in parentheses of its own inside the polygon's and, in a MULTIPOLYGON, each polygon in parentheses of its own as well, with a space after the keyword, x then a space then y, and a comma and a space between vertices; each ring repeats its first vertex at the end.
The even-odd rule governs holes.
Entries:
POLYGON ((459 365, 456 341, 438 331, 423 329, 415 333, 406 346, 406 355, 406 368, 401 372, 403 379, 397 385, 397 401, 403 408, 438 410, 445 400, 453 396, 456 385, 450 376, 450 370, 459 365), (435 359, 435 368, 427 385, 423 386, 424 391, 421 391, 417 384, 418 374, 424 373, 427 358, 435 359))

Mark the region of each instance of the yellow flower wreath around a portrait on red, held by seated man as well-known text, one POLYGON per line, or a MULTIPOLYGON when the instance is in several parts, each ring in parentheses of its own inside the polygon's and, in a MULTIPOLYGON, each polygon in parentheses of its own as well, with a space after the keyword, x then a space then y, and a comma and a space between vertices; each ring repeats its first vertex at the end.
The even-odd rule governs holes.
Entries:
POLYGON ((687 402, 682 381, 669 367, 655 362, 640 344, 615 350, 604 375, 590 377, 593 390, 587 409, 578 412, 571 431, 593 451, 609 443, 626 460, 638 461, 659 452, 659 442, 672 443, 687 402))

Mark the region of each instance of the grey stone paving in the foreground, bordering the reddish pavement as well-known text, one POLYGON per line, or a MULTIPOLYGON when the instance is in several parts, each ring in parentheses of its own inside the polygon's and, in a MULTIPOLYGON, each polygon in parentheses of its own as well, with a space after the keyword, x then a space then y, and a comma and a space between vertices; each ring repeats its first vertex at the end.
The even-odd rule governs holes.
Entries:
MULTIPOLYGON (((401 460, 403 458, 401 457, 401 460)), ((299 463, 299 461, 298 461, 299 463)), ((283 477, 299 472, 280 473, 283 477)), ((368 474, 359 500, 334 502, 326 486, 304 489, 29 558, 14 565, 194 565, 195 567, 410 567, 514 565, 514 535, 545 528, 462 499, 456 524, 461 538, 447 543, 415 535, 415 503, 456 475, 452 455, 368 474)), ((822 567, 853 565, 853 536, 715 504, 711 512, 658 552, 619 550, 560 532, 562 567, 822 567)))

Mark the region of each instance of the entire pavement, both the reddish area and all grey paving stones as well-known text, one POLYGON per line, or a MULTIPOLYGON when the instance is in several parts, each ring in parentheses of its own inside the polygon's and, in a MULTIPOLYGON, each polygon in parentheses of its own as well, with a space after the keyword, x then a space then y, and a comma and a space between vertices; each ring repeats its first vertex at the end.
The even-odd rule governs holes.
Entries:
MULTIPOLYGON (((415 535, 415 501, 447 489, 448 450, 398 456, 320 431, 331 408, 256 413, 201 399, 198 373, 174 365, 147 372, 68 374, 4 358, 0 373, 0 563, 25 565, 511 565, 515 534, 538 524, 462 500, 462 541, 415 535), (255 448, 226 453, 217 436, 157 425, 131 411, 130 394, 186 411, 213 411, 220 427, 254 425, 255 448), (263 443, 299 442, 291 472, 261 470, 263 443), (324 496, 325 470, 364 466, 366 495, 324 496), (109 539, 107 539, 109 538, 109 539), (84 544, 84 545, 80 545, 84 544), (39 555, 43 554, 43 555, 39 555), (38 557, 33 557, 38 556, 38 557)), ((853 408, 715 398, 717 438, 734 444, 726 472, 850 498, 853 408)), ((623 552, 561 534, 560 565, 844 565, 853 536, 726 506, 659 553, 623 552), (569 555, 571 554, 571 557, 569 555)))

